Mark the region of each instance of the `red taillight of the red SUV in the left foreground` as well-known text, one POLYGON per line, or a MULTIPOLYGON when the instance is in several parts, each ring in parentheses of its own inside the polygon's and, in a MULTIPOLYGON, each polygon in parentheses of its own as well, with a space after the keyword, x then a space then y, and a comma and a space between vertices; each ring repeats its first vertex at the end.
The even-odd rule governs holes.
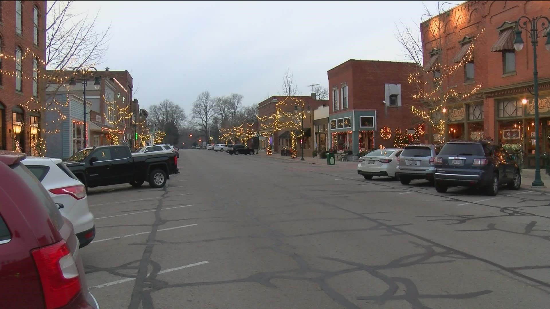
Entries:
POLYGON ((31 251, 47 309, 63 307, 80 292, 78 268, 64 240, 31 251))

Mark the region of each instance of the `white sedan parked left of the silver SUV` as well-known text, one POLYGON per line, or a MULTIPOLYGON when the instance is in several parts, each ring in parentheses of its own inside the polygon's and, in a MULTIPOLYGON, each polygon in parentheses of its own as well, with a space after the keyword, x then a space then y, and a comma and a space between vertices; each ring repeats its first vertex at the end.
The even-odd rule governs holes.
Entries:
POLYGON ((373 150, 359 158, 357 174, 363 175, 365 179, 372 179, 373 176, 389 176, 395 178, 397 162, 401 148, 387 148, 373 150))

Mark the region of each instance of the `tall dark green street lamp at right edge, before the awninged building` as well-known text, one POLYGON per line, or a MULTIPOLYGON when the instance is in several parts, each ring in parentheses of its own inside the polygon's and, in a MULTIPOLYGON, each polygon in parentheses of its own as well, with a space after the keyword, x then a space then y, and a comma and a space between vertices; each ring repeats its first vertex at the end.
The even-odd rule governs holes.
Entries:
POLYGON ((543 32, 544 35, 546 35, 546 43, 544 43, 544 47, 546 47, 547 51, 550 51, 550 27, 548 27, 548 24, 550 24, 550 19, 548 19, 546 16, 538 16, 535 18, 530 19, 527 16, 521 16, 518 18, 518 22, 516 24, 516 30, 514 31, 515 38, 514 38, 514 48, 516 51, 521 51, 523 48, 523 39, 521 38, 521 29, 524 29, 527 31, 527 35, 531 38, 531 45, 533 46, 533 96, 535 96, 535 180, 533 180, 532 186, 543 186, 544 183, 541 180, 541 152, 540 152, 540 146, 538 145, 539 137, 538 137, 538 71, 537 71, 537 45, 538 45, 538 36, 540 36, 543 32), (521 23, 523 21, 523 23, 521 23), (542 21, 541 23, 541 30, 539 31, 537 28, 538 22, 542 21), (527 23, 530 24, 530 29, 527 29, 527 23), (545 27, 546 26, 546 27, 545 27), (521 28, 521 29, 520 29, 521 28))

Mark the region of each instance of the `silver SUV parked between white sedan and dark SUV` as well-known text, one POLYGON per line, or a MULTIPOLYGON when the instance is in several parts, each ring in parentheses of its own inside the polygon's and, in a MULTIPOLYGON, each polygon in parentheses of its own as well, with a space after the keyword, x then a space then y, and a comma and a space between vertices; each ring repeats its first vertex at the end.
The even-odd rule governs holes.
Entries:
POLYGON ((401 184, 408 185, 412 179, 427 179, 433 184, 433 165, 443 145, 409 145, 405 146, 399 156, 397 173, 401 184))

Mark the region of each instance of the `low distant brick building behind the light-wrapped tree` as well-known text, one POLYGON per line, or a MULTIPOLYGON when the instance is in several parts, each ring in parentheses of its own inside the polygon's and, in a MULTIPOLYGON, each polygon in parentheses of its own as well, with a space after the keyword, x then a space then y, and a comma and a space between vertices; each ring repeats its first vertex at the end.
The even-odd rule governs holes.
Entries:
MULTIPOLYGON (((304 156, 311 156, 312 150, 315 146, 313 142, 313 134, 312 128, 313 128, 313 110, 316 109, 319 106, 322 106, 323 104, 328 104, 328 100, 317 100, 315 97, 315 93, 312 93, 311 96, 293 96, 292 98, 296 98, 297 100, 304 101, 304 109, 307 111, 307 107, 310 108, 310 113, 305 114, 306 118, 304 118, 304 137, 303 139, 299 139, 296 141, 296 148, 298 148, 298 156, 301 156, 301 145, 300 142, 304 142, 304 156)), ((288 99, 287 96, 271 96, 267 98, 266 100, 260 102, 258 104, 258 117, 269 117, 270 115, 276 113, 277 110, 277 103, 283 102, 284 105, 279 105, 279 107, 282 109, 285 113, 294 113, 294 107, 299 104, 299 102, 295 100, 288 99)), ((300 107, 298 107, 298 111, 300 111, 300 107)), ((288 121, 281 120, 281 121, 288 121)), ((265 123, 270 123, 271 120, 267 120, 265 123)), ((266 125, 264 123, 264 125, 266 125)), ((260 124, 259 128, 260 133, 260 149, 265 149, 268 144, 268 139, 271 140, 271 143, 273 145, 273 152, 280 152, 281 148, 289 148, 292 146, 292 140, 290 139, 290 129, 289 128, 281 128, 278 131, 273 131, 273 128, 268 127, 265 128, 260 124), (270 136, 262 136, 262 133, 265 135, 266 133, 272 134, 270 136)))

